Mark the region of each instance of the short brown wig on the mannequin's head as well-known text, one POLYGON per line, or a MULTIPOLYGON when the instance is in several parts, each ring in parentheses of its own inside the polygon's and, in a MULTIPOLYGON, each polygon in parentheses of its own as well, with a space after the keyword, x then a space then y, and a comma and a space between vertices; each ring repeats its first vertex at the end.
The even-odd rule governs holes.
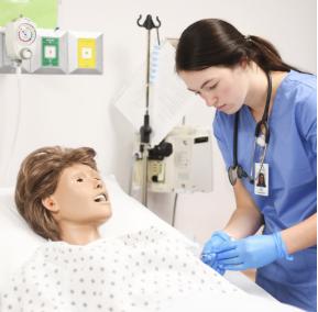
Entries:
POLYGON ((48 146, 32 152, 22 161, 14 199, 18 211, 36 234, 61 241, 59 226, 42 200, 55 192, 65 168, 83 164, 97 170, 95 156, 96 152, 90 147, 48 146))

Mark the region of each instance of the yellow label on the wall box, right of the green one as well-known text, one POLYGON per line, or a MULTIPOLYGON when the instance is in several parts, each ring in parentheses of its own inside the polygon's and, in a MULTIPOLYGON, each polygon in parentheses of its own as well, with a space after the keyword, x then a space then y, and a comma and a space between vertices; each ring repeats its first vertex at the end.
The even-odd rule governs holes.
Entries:
POLYGON ((77 42, 79 68, 96 68, 96 40, 79 38, 77 42))

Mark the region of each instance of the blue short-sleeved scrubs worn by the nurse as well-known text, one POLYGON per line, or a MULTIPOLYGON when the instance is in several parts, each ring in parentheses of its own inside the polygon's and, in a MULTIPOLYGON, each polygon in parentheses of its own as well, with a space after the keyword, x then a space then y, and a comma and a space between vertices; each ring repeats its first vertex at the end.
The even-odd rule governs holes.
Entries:
MULTIPOLYGON (((250 174, 255 120, 240 112, 238 163, 250 174)), ((290 227, 317 212, 317 77, 290 70, 278 86, 271 115, 268 197, 243 183, 264 216, 264 234, 290 227)), ((213 132, 227 168, 233 164, 234 115, 217 112, 213 132)), ((317 310, 317 247, 295 253, 257 270, 256 282, 283 302, 317 310)))

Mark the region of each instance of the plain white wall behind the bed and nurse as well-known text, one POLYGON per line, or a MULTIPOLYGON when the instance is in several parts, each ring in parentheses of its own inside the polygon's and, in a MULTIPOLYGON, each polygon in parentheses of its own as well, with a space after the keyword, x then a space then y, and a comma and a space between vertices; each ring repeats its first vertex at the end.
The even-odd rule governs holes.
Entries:
MULTIPOLYGON (((191 22, 224 19, 244 34, 268 38, 283 58, 316 73, 316 0, 105 1, 59 0, 59 27, 105 34, 102 76, 0 75, 0 187, 13 185, 19 164, 43 145, 88 145, 98 152, 102 172, 114 172, 128 189, 133 130, 112 107, 123 83, 145 59, 145 31, 139 14, 162 20, 162 37, 178 37, 191 22), (21 113, 19 119, 19 94, 21 113), (11 153, 12 130, 19 120, 11 153)), ((204 104, 188 116, 210 126, 213 111, 204 104)), ((233 209, 233 196, 213 145, 213 192, 179 196, 176 227, 199 242, 221 227, 233 209)), ((155 194, 151 209, 169 220, 173 199, 155 194)))

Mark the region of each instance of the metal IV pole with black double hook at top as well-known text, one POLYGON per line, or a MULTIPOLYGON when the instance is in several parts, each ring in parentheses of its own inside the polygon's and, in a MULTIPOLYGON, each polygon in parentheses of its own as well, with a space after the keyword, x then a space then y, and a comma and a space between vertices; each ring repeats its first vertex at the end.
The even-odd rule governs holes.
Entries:
POLYGON ((157 40, 160 44, 158 37, 158 27, 161 26, 161 21, 158 16, 156 16, 157 25, 154 24, 152 20, 152 15, 147 14, 144 23, 141 21, 142 15, 139 15, 136 20, 136 24, 140 27, 144 27, 147 30, 147 53, 146 53, 146 93, 145 93, 145 114, 143 118, 143 125, 140 129, 140 154, 142 160, 142 186, 141 186, 141 201, 144 205, 147 204, 147 157, 150 149, 150 135, 151 135, 151 126, 150 126, 150 114, 149 114, 149 102, 150 102, 150 46, 151 46, 151 30, 156 29, 157 31, 157 40))

